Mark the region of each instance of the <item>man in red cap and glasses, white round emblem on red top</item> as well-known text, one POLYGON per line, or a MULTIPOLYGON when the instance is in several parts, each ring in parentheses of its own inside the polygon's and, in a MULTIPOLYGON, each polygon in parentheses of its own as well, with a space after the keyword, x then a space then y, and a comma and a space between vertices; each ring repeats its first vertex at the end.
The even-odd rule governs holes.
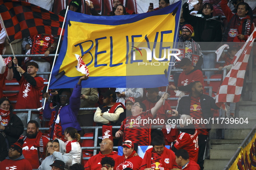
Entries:
POLYGON ((115 160, 115 170, 123 170, 127 167, 132 168, 133 170, 139 170, 140 164, 142 162, 142 158, 139 155, 136 155, 136 151, 134 151, 133 142, 127 140, 122 143, 123 147, 123 156, 117 157, 115 160))

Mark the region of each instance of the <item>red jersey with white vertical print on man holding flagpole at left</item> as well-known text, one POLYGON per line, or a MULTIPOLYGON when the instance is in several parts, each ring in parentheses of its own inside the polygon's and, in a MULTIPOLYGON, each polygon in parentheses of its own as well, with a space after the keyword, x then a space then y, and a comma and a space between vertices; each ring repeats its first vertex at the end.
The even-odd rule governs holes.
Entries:
POLYGON ((37 109, 41 107, 40 94, 44 80, 42 77, 34 77, 36 86, 33 87, 24 76, 19 80, 19 94, 15 109, 37 109))

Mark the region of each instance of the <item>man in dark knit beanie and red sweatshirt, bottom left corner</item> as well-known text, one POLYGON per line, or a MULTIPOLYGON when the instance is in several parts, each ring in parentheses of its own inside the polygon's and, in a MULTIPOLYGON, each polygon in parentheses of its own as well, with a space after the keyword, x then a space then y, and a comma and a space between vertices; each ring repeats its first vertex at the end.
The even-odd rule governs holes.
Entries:
POLYGON ((32 166, 22 154, 23 140, 19 139, 8 149, 8 157, 0 162, 0 170, 32 170, 32 166))

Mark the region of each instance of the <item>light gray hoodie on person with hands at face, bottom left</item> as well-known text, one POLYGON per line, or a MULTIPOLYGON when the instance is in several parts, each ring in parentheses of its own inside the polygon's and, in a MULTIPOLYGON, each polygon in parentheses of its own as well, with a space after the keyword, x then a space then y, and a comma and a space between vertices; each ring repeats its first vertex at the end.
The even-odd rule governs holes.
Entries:
POLYGON ((55 151, 52 155, 45 158, 44 161, 42 161, 42 164, 38 168, 39 170, 52 170, 52 167, 50 166, 53 161, 55 160, 61 160, 65 163, 65 170, 69 169, 69 166, 72 164, 72 155, 66 154, 66 145, 65 143, 58 139, 59 142, 59 152, 55 151))

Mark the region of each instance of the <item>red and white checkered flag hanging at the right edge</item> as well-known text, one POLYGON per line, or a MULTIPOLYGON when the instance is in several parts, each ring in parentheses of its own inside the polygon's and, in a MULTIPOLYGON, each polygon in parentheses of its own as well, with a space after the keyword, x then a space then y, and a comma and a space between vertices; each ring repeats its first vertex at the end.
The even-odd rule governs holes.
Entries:
POLYGON ((224 110, 226 108, 226 102, 237 103, 240 100, 246 66, 255 38, 256 29, 254 29, 242 49, 235 55, 233 67, 228 72, 216 95, 216 105, 222 107, 224 110))

